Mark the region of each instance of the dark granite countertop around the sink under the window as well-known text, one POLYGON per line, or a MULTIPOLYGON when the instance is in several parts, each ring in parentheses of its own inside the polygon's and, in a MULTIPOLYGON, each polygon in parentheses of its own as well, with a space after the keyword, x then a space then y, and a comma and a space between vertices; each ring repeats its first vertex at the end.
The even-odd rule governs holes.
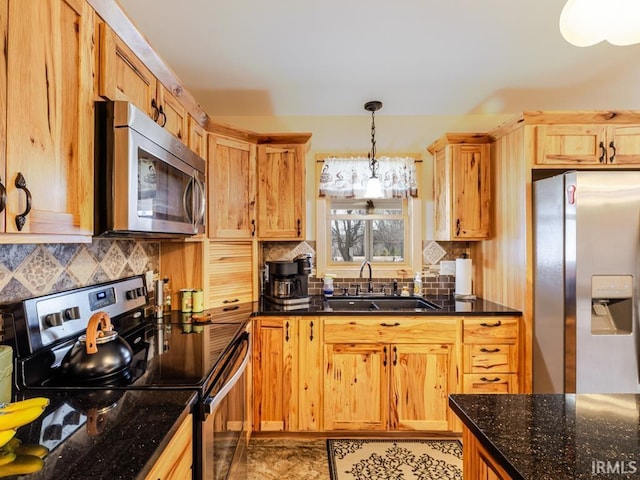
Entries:
MULTIPOLYGON (((333 297, 339 298, 339 297, 333 297)), ((349 297, 357 298, 357 297, 349 297)), ((402 297, 405 298, 405 297, 402 297)), ((298 308, 295 306, 277 305, 262 297, 253 308, 254 315, 430 315, 430 316, 495 316, 495 315, 522 315, 522 312, 514 310, 498 303, 490 302, 482 298, 474 300, 456 300, 453 297, 429 296, 425 299, 440 305, 441 309, 394 309, 394 310, 370 310, 370 311, 346 311, 331 309, 322 295, 311 296, 308 306, 298 308)))

